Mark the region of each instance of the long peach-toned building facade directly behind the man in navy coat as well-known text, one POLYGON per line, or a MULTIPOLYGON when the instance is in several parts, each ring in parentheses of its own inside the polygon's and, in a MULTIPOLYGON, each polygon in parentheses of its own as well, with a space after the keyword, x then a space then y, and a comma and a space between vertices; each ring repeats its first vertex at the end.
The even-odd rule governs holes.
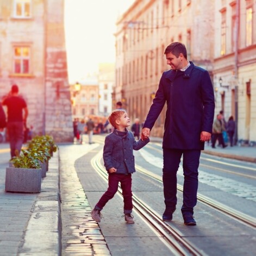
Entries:
MULTIPOLYGON (((114 101, 122 101, 134 120, 143 121, 152 104, 161 74, 170 69, 164 55, 173 41, 182 41, 188 59, 213 71, 214 1, 142 0, 117 21, 114 101), (211 22, 207 22, 211 20, 211 22)), ((152 135, 162 136, 165 109, 152 135)))

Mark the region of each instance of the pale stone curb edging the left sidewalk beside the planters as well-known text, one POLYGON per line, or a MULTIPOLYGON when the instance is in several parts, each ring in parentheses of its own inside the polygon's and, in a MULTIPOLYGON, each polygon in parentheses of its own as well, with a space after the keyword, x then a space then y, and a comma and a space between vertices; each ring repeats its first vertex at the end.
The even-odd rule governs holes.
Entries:
POLYGON ((18 255, 61 255, 59 151, 49 160, 18 255))

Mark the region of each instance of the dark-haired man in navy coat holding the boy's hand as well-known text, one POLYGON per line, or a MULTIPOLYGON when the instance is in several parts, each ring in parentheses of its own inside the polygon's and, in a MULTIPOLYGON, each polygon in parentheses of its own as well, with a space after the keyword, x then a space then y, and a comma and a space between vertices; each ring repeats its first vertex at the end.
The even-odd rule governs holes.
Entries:
POLYGON ((177 171, 183 155, 184 223, 196 225, 193 208, 197 202, 198 166, 204 142, 209 141, 214 119, 214 91, 209 73, 187 60, 183 43, 173 42, 165 49, 171 70, 163 73, 153 104, 143 125, 145 140, 167 103, 163 138, 164 221, 171 221, 177 204, 177 171))

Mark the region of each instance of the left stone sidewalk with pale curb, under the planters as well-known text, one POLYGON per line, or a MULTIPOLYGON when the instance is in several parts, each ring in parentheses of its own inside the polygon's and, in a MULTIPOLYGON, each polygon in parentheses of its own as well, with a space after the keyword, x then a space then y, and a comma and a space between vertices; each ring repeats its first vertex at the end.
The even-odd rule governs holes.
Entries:
POLYGON ((61 255, 59 158, 54 153, 40 193, 5 192, 7 143, 0 145, 0 255, 61 255))

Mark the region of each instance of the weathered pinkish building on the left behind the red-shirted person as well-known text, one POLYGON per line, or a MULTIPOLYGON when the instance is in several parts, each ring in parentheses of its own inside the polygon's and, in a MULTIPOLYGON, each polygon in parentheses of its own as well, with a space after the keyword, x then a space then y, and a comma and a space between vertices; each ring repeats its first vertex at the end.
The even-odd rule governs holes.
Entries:
POLYGON ((1 0, 0 30, 0 97, 17 84, 33 133, 71 141, 64 0, 1 0))

